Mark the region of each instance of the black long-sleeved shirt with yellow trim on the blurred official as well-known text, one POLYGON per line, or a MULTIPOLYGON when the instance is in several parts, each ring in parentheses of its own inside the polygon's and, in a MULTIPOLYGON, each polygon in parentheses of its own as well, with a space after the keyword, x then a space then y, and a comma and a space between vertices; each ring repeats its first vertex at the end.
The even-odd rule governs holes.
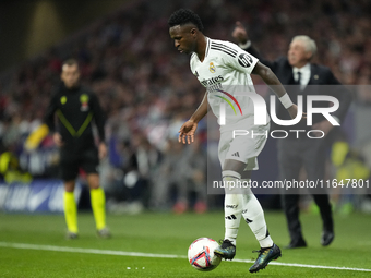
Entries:
POLYGON ((105 141, 105 117, 97 96, 79 85, 67 88, 61 84, 52 94, 45 114, 51 132, 58 131, 63 140, 62 149, 81 153, 95 146, 92 122, 95 122, 100 142, 105 141), (55 125, 57 114, 58 125, 55 125))

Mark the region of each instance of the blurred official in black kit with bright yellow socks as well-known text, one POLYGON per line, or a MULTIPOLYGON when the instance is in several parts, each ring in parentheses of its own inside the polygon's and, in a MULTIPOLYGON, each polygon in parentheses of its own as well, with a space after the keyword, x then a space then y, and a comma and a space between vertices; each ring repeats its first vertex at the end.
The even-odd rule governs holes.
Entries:
POLYGON ((106 227, 105 193, 99 186, 99 158, 107 155, 105 144, 105 118, 97 96, 80 85, 80 70, 76 60, 62 64, 62 84, 52 94, 45 116, 45 122, 53 133, 53 141, 60 148, 60 171, 64 182, 64 217, 67 238, 76 239, 77 206, 74 198, 75 179, 80 168, 86 172, 91 190, 91 202, 98 237, 109 238, 106 227), (55 124, 57 114, 58 124, 55 124), (98 148, 93 136, 95 123, 99 134, 98 148))

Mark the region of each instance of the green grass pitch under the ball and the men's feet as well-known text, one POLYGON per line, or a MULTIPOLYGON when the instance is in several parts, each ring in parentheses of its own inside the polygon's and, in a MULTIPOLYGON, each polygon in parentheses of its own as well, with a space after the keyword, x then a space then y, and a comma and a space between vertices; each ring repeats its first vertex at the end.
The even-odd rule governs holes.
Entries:
MULTIPOLYGON (((265 217, 273 240, 279 246, 286 245, 289 239, 284 215, 266 211, 265 217)), ((336 216, 336 237, 328 247, 320 245, 320 217, 302 214, 301 220, 309 246, 283 250, 283 257, 277 263, 371 269, 370 216, 336 216)), ((0 214, 0 277, 371 277, 371 271, 273 264, 258 274, 250 274, 252 263, 225 261, 213 271, 198 271, 184 258, 188 247, 201 237, 215 240, 223 238, 223 211, 204 215, 108 215, 107 222, 113 238, 97 239, 92 214, 80 214, 80 238, 67 241, 64 218, 61 215, 0 214), (10 246, 11 243, 23 243, 27 249, 23 249, 23 245, 21 249, 10 246), (37 250, 43 246, 53 246, 56 250, 37 250), (58 246, 68 249, 61 252, 58 246), (65 252, 71 250, 74 252, 65 252), (92 250, 96 253, 93 254, 92 250), (100 251, 171 254, 181 257, 128 256, 120 253, 104 254, 100 251)), ((241 222, 236 258, 255 259, 256 254, 252 250, 258 249, 259 244, 249 227, 241 222)))

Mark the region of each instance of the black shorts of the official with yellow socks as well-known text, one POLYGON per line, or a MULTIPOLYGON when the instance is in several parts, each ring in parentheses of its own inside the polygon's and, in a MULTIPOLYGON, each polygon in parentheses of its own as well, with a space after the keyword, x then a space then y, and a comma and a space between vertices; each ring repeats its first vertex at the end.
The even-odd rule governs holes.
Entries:
POLYGON ((82 152, 62 148, 60 152, 60 176, 63 181, 75 180, 79 169, 86 173, 98 173, 99 157, 96 147, 82 152))

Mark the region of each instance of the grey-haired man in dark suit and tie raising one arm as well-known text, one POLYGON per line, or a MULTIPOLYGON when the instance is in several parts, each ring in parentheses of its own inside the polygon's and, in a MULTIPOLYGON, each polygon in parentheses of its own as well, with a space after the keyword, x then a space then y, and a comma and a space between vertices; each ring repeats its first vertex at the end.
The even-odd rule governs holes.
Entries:
MULTIPOLYGON (((307 112, 308 95, 331 95, 338 99, 339 108, 332 113, 332 117, 338 123, 342 123, 351 102, 351 95, 344 86, 340 86, 340 83, 328 68, 311 63, 311 59, 316 51, 313 39, 308 36, 296 36, 289 45, 287 57, 278 58, 275 61, 267 61, 252 47, 247 31, 240 22, 237 22, 232 36, 238 39, 241 48, 271 68, 282 84, 285 85, 294 102, 297 102, 299 95, 303 97, 304 112, 307 112)), ((315 107, 328 108, 332 104, 328 101, 315 101, 315 107)), ((289 119, 278 106, 276 107, 276 114, 278 119, 289 119)), ((287 132, 289 130, 304 131, 298 133, 288 132, 288 137, 278 141, 280 178, 288 181, 298 181, 300 169, 304 167, 309 181, 324 180, 326 160, 325 141, 326 135, 333 128, 334 125, 320 113, 313 114, 312 126, 308 126, 306 121, 301 121, 294 126, 273 126, 273 129, 285 130, 287 132), (310 130, 322 131, 316 133, 322 138, 309 138, 307 132, 310 130)), ((312 193, 322 217, 321 244, 327 246, 335 237, 328 195, 323 191, 310 190, 310 193, 312 193)), ((283 194, 282 198, 291 240, 287 246, 288 249, 307 246, 299 221, 299 196, 298 191, 291 191, 289 194, 283 194)))

